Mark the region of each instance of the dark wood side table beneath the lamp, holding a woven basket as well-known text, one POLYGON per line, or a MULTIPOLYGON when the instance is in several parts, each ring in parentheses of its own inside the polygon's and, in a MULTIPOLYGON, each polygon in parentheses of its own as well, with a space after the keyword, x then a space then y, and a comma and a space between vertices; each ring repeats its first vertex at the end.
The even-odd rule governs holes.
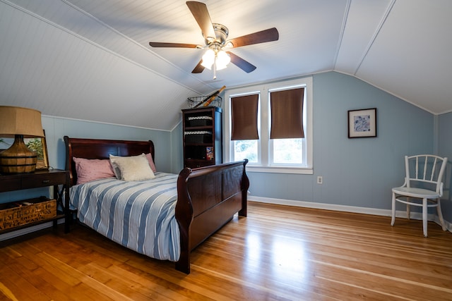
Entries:
POLYGON ((26 223, 24 225, 16 226, 14 228, 8 228, 0 231, 0 234, 8 233, 11 231, 17 231, 23 228, 36 226, 41 223, 47 223, 49 221, 54 222, 54 227, 57 227, 57 221, 64 219, 64 231, 69 232, 70 211, 69 209, 69 171, 52 169, 44 171, 35 171, 34 173, 18 173, 11 175, 0 175, 0 192, 8 192, 15 190, 25 190, 31 188, 42 188, 53 186, 54 199, 57 199, 57 216, 50 219, 44 219, 42 221, 36 221, 32 223, 26 223), (62 185, 59 190, 59 185, 62 185), (64 194, 64 204, 63 204, 64 194))

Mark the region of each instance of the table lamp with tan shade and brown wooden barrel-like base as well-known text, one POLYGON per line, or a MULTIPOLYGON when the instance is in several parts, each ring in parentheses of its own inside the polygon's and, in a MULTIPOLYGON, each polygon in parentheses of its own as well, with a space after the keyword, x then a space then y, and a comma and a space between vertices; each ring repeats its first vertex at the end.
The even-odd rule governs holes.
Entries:
POLYGON ((0 137, 14 137, 10 148, 0 152, 0 173, 32 173, 37 154, 23 138, 44 137, 41 112, 18 106, 0 106, 0 137))

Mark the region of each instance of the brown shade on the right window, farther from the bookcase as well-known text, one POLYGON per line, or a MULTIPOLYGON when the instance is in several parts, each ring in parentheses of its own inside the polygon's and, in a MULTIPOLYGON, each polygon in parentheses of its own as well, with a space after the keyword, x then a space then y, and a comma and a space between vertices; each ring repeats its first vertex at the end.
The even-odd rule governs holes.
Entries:
POLYGON ((304 138, 304 88, 270 92, 270 139, 304 138))

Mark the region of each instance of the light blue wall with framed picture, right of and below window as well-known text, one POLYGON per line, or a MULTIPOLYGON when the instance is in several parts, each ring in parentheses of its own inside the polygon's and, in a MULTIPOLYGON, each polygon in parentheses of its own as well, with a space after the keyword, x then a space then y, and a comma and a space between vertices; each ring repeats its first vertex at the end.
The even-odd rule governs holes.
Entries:
POLYGON ((434 116, 348 75, 313 78, 314 175, 249 172, 251 195, 390 209, 391 188, 403 184, 403 156, 433 152, 434 116), (378 137, 349 139, 347 111, 374 107, 378 137))

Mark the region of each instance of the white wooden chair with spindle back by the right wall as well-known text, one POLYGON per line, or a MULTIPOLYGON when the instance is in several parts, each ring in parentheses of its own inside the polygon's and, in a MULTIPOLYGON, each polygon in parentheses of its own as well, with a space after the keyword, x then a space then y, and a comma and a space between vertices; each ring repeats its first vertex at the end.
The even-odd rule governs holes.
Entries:
POLYGON ((410 219, 410 206, 422 207, 422 228, 427 237, 427 212, 436 207, 439 222, 446 231, 441 214, 441 196, 443 195, 443 176, 447 158, 431 154, 405 156, 405 183, 393 188, 391 226, 396 221, 396 201, 407 205, 407 217, 410 219))

